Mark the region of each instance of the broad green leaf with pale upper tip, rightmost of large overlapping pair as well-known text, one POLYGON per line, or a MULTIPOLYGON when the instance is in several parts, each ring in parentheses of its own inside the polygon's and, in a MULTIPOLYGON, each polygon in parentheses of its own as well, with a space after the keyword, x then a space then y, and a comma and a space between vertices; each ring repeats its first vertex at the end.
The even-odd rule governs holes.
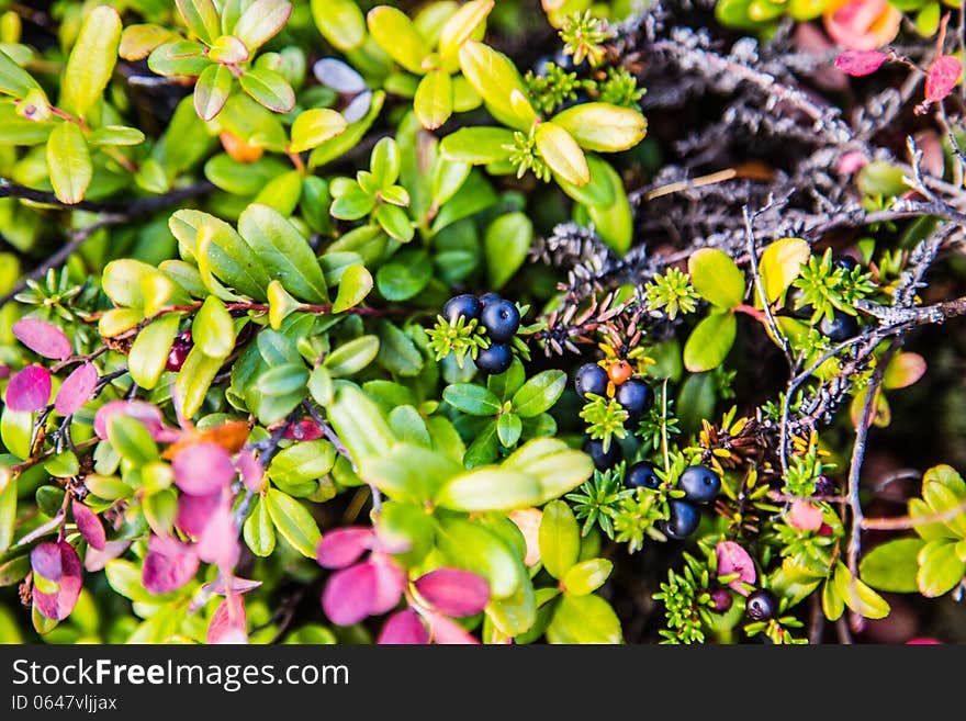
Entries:
POLYGON ((308 241, 278 211, 258 203, 249 205, 238 218, 238 232, 265 271, 292 295, 312 303, 328 300, 325 278, 308 241))

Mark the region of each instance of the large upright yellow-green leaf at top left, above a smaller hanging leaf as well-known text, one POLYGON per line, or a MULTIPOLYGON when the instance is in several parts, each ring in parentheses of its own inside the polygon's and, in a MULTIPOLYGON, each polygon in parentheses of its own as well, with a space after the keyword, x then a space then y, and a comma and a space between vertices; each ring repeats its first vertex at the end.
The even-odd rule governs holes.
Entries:
POLYGON ((110 5, 98 5, 88 13, 67 67, 64 70, 60 106, 83 117, 100 98, 114 65, 121 45, 121 16, 110 5))

